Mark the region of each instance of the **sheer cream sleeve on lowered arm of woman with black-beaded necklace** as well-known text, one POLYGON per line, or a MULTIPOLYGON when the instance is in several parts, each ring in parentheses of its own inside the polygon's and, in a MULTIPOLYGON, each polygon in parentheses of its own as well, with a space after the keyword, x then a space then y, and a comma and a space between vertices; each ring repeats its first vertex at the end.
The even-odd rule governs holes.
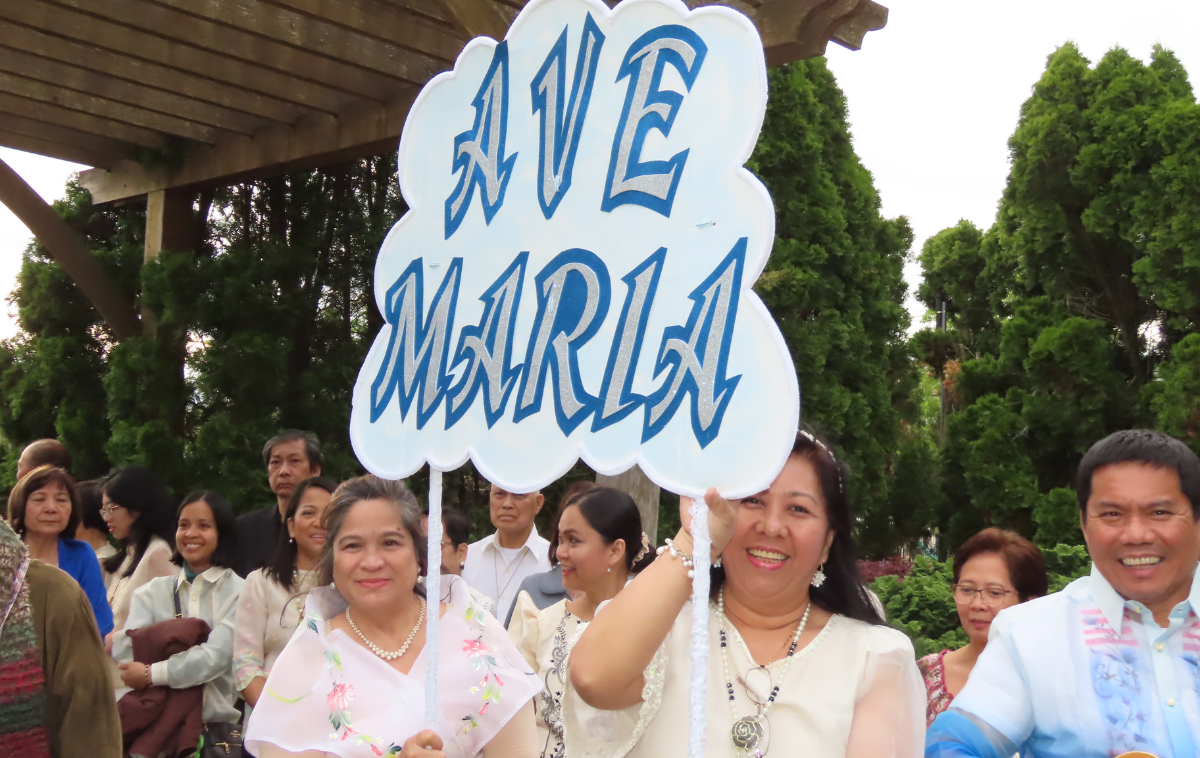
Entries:
POLYGON ((872 627, 859 680, 846 758, 920 758, 925 750, 925 687, 912 643, 872 627))

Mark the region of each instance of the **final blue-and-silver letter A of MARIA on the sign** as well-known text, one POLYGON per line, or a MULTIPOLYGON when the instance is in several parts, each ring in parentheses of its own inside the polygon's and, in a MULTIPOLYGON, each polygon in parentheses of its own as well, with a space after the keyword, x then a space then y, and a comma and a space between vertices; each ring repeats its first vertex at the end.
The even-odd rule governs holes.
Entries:
POLYGON ((692 290, 695 302, 688 323, 662 332, 654 375, 670 369, 666 381, 646 399, 642 441, 650 439, 674 416, 685 395, 691 396, 691 431, 707 447, 721 431, 740 375, 726 377, 733 324, 742 291, 746 237, 742 237, 716 269, 692 290))

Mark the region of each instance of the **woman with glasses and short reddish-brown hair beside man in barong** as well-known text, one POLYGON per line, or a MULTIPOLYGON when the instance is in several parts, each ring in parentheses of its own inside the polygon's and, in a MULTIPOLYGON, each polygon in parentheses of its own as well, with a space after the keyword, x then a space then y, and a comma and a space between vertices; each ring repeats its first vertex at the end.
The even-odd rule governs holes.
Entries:
POLYGON ((1036 545, 1014 531, 984 529, 954 553, 954 603, 970 642, 917 662, 925 678, 926 723, 949 708, 967 684, 996 614, 1046 594, 1046 564, 1036 545))

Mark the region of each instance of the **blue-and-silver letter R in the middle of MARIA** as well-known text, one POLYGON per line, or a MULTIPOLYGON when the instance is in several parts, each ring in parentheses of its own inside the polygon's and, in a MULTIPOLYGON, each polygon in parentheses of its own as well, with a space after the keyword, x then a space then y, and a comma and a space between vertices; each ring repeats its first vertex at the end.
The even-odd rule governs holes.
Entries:
POLYGON ((583 389, 576 354, 608 313, 612 289, 608 269, 595 253, 571 248, 546 264, 534 282, 538 315, 529 335, 512 421, 520 422, 541 409, 546 375, 552 374, 554 416, 563 434, 570 435, 599 402, 583 389))

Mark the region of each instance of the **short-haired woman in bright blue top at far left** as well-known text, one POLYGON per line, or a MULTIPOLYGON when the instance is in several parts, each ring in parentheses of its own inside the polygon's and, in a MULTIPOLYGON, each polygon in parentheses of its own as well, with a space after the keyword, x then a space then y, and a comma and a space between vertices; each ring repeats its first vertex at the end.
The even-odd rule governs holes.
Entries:
POLYGON ((79 583, 96 614, 100 636, 113 631, 113 609, 95 551, 86 542, 64 536, 73 535, 79 525, 79 497, 71 475, 52 465, 26 474, 8 494, 8 525, 24 541, 30 558, 58 566, 79 583))

